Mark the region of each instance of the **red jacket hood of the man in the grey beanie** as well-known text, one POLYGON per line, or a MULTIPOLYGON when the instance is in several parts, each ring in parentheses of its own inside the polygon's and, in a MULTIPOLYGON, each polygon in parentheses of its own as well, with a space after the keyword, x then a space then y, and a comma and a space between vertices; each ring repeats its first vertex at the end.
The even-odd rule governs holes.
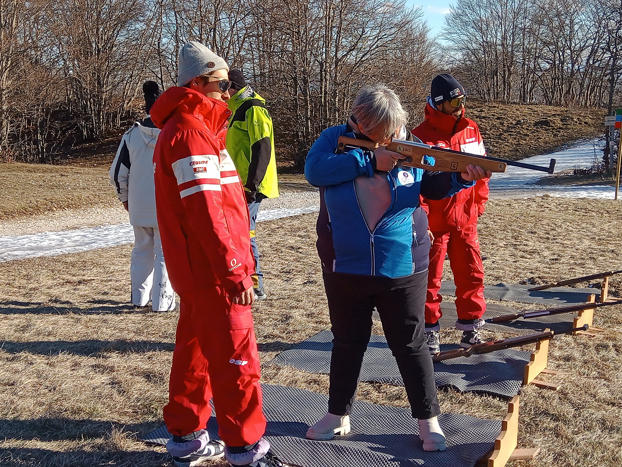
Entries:
POLYGON ((218 133, 222 130, 231 111, 225 101, 205 97, 190 88, 168 88, 151 106, 151 121, 162 130, 164 124, 176 113, 187 113, 203 121, 208 130, 218 133))

